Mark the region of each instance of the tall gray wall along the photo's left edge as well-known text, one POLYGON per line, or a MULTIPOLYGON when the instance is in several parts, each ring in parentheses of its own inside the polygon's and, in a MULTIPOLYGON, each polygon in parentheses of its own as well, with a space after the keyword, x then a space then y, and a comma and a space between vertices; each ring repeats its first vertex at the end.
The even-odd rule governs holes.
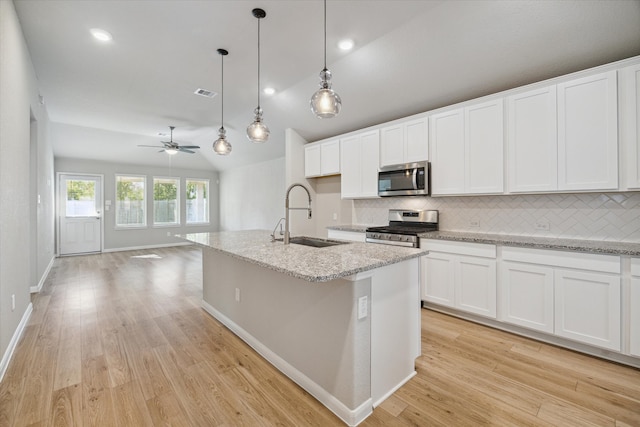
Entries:
POLYGON ((31 304, 30 288, 54 255, 49 119, 11 1, 0 1, 0 94, 0 355, 6 362, 31 304))

